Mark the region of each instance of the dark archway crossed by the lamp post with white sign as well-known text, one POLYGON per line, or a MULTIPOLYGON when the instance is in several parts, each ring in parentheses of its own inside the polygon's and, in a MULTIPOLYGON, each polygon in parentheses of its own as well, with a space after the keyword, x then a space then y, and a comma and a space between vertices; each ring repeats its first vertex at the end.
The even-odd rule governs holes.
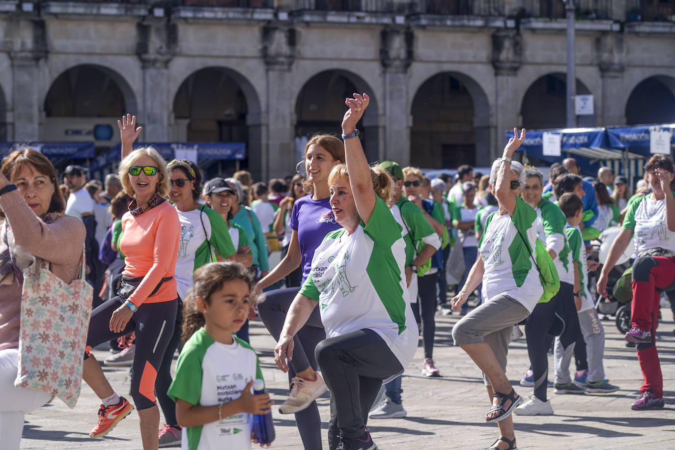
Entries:
MULTIPOLYGON (((532 130, 565 128, 567 125, 567 83, 562 73, 547 74, 537 79, 525 92, 520 107, 522 126, 532 130)), ((576 94, 591 94, 578 79, 576 94)), ((595 126, 595 115, 579 115, 577 126, 595 126)))

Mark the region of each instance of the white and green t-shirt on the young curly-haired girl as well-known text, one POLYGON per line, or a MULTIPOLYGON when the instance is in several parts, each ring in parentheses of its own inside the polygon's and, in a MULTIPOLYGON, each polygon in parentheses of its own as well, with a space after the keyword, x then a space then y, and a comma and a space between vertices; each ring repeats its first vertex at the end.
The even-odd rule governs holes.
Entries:
MULTIPOLYGON (((238 337, 213 340, 198 329, 185 343, 168 395, 190 405, 211 406, 238 399, 251 379, 263 379, 255 351, 238 337)), ((242 412, 220 422, 183 428, 182 450, 250 449, 252 414, 242 412)))

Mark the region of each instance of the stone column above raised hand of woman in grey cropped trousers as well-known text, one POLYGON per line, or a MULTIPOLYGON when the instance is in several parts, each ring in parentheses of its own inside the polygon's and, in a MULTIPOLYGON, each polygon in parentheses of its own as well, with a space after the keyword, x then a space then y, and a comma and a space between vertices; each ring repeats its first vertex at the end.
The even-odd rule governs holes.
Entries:
MULTIPOLYGON (((501 30, 492 35, 492 67, 495 70, 495 130, 489 163, 501 156, 506 144, 504 132, 522 125, 520 99, 516 96, 518 69, 522 65, 522 36, 515 30, 501 30)), ((476 146, 479 142, 476 142, 476 146)), ((485 165, 490 165, 485 164, 485 165)))

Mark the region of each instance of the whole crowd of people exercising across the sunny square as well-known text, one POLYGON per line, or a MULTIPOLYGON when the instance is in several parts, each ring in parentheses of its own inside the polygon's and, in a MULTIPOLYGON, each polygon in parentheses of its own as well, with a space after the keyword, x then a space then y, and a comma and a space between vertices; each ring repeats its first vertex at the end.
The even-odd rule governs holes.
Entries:
POLYGON ((526 134, 514 129, 489 174, 462 165, 456 177, 429 179, 395 161, 369 164, 356 129, 368 105, 367 94, 346 99, 342 138, 313 136, 298 173, 268 183, 247 171, 206 181, 195 161, 134 148, 141 128, 131 115, 119 121, 119 169, 103 183, 70 165, 59 186, 41 153, 9 154, 0 170, 3 448, 19 448, 24 415, 54 395, 14 383, 30 333, 24 271, 38 261, 64 283, 86 277, 94 288, 81 349, 82 379, 101 399, 94 439, 136 408, 144 449, 257 443, 250 415, 273 404, 252 391, 263 374, 248 322, 259 316, 277 341, 275 364, 288 372, 279 412, 294 414, 304 447, 322 448, 316 400, 330 391, 329 448, 377 449, 369 418, 406 416, 401 376, 420 339, 419 370, 441 376, 435 316, 454 310, 452 339, 481 370, 484 420, 499 429, 487 450, 516 449, 512 413, 553 414, 549 387, 619 389, 605 378, 595 304, 612 299, 608 277, 631 240, 626 341, 644 376, 632 409, 664 407, 655 342, 661 293, 675 294, 672 157, 651 157, 633 196, 625 177, 601 167, 584 178, 571 158, 553 164, 545 183, 514 159, 526 134), (599 269, 591 241, 612 226, 621 231, 599 269), (273 251, 281 261, 270 267, 273 251), (531 363, 520 381, 533 388, 526 401, 506 377, 519 325, 531 363), (107 342, 115 353, 104 364, 131 366, 132 401, 90 352, 107 342))

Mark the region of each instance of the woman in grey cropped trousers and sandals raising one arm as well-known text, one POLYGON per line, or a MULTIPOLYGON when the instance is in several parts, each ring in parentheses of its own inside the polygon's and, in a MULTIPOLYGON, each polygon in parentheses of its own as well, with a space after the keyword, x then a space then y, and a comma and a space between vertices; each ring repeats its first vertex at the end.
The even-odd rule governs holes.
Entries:
POLYGON ((524 171, 522 164, 511 160, 525 138, 525 130, 520 138, 515 128, 513 132, 504 157, 492 164, 490 173, 490 191, 497 198, 499 210, 487 217, 478 243, 480 257, 452 299, 452 307, 459 310, 468 293, 483 283, 483 304, 457 322, 452 339, 483 372, 493 405, 485 422, 497 422, 499 426, 499 437, 487 450, 516 448, 511 413, 522 397, 506 378, 506 355, 513 326, 530 315, 543 293, 533 264, 537 213, 520 198, 524 171))

